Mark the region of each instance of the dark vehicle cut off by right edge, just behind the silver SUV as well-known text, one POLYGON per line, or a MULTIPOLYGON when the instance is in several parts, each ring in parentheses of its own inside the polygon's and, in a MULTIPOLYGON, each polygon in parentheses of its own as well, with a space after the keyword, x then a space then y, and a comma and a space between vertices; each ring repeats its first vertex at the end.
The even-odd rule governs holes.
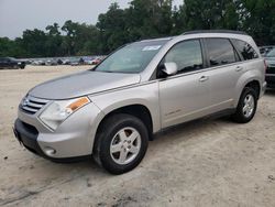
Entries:
POLYGON ((268 87, 275 88, 275 47, 265 55, 265 61, 267 65, 265 80, 268 87))

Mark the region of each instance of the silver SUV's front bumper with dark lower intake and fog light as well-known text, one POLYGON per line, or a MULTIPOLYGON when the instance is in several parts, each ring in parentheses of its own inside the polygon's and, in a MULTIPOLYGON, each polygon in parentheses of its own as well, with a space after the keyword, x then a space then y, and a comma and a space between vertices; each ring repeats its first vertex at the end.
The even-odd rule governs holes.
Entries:
POLYGON ((66 119, 56 131, 51 131, 38 119, 19 109, 14 134, 28 150, 53 161, 74 161, 92 153, 97 120, 101 111, 89 103, 66 119))

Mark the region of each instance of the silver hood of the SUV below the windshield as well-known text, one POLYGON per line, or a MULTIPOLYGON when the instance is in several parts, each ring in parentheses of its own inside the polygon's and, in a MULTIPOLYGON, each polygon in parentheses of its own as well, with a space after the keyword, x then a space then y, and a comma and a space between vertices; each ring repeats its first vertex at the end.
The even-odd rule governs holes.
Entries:
POLYGON ((30 96, 43 99, 69 99, 140 83, 139 74, 86 70, 37 85, 30 96))

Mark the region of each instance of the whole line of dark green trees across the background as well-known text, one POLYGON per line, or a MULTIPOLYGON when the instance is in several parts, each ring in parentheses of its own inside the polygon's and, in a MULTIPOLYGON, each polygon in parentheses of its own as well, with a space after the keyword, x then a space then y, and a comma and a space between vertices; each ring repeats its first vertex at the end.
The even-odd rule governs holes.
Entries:
POLYGON ((151 37, 190 30, 243 30, 258 44, 275 44, 275 0, 132 0, 129 8, 112 3, 96 25, 68 20, 42 30, 26 30, 22 37, 0 37, 0 56, 42 57, 97 55, 151 37))

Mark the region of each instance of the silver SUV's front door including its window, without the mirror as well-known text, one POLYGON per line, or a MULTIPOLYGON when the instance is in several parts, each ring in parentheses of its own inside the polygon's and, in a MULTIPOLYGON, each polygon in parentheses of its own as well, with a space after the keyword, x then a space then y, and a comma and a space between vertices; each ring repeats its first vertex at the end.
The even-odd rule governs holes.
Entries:
POLYGON ((184 41, 162 63, 176 63, 178 74, 160 79, 162 127, 166 128, 208 113, 209 72, 204 72, 200 40, 184 41))

